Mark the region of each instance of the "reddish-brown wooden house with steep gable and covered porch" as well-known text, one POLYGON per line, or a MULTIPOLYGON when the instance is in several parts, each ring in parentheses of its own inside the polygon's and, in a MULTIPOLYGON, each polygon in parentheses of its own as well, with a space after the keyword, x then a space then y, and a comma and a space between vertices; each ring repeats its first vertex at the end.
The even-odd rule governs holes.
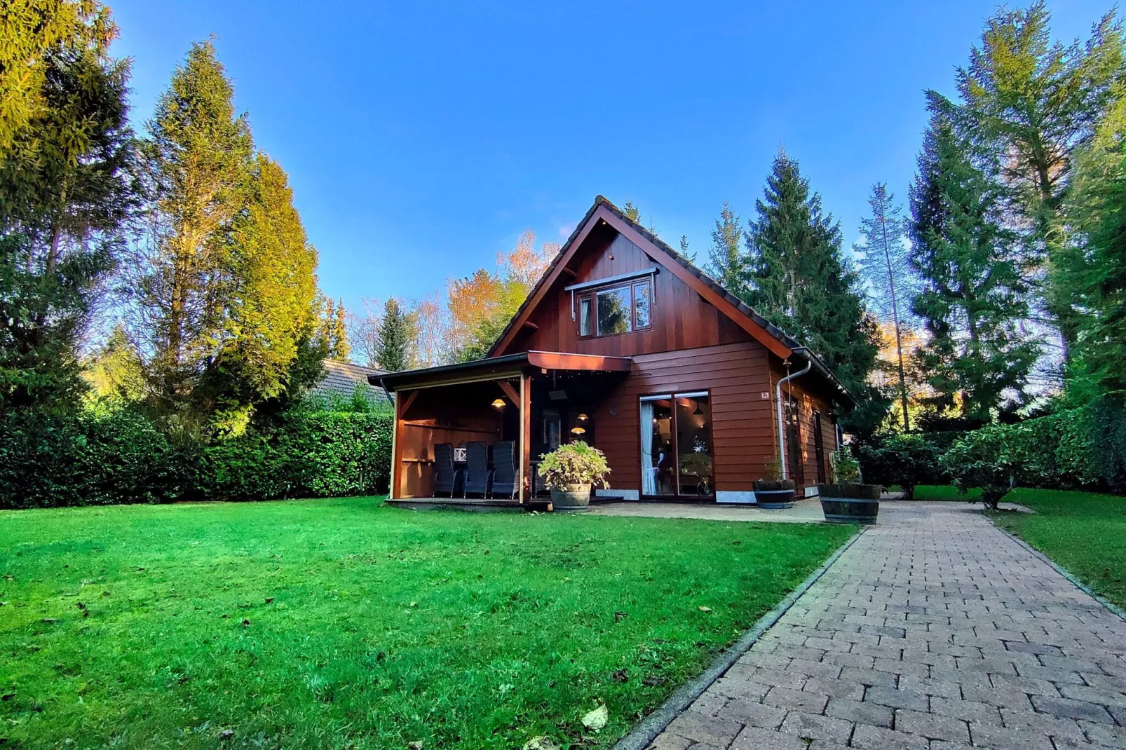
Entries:
POLYGON ((539 455, 573 439, 606 454, 601 495, 753 502, 779 450, 808 495, 852 403, 814 352, 601 196, 488 357, 370 382, 395 394, 390 501, 415 505, 435 495, 436 445, 515 445, 517 491, 470 501, 519 505, 543 491, 539 455))

